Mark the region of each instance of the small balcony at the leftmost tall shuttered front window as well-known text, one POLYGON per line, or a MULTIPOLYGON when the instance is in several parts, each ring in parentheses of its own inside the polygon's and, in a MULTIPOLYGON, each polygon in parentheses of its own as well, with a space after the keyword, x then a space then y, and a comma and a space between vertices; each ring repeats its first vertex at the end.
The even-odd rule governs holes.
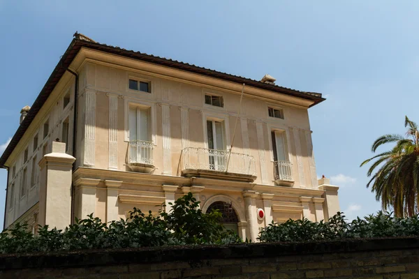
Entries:
POLYGON ((131 172, 149 174, 154 171, 153 149, 152 142, 133 140, 128 143, 128 168, 131 172))

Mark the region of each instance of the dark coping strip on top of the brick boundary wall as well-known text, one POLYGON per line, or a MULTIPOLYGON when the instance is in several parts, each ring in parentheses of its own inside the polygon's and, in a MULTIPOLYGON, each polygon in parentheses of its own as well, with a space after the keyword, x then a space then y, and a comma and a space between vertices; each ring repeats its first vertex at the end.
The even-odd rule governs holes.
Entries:
POLYGON ((247 243, 230 246, 163 246, 115 250, 78 250, 0 255, 0 271, 75 266, 110 266, 159 262, 196 262, 205 259, 242 259, 286 257, 292 255, 366 252, 373 250, 408 250, 419 248, 419 237, 385 239, 347 239, 306 243, 247 243))

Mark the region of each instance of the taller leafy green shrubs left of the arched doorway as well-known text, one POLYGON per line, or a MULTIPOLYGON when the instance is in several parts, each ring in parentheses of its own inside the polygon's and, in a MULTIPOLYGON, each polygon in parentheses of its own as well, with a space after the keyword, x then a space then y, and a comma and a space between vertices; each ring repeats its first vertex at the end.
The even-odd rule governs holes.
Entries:
POLYGON ((1 232, 0 253, 242 242, 235 232, 224 231, 217 223, 221 218, 219 211, 203 213, 191 193, 170 205, 169 213, 159 211, 158 216, 134 208, 127 220, 108 224, 91 214, 86 219, 76 219, 64 231, 39 226, 36 236, 29 232, 27 224, 17 223, 1 232))

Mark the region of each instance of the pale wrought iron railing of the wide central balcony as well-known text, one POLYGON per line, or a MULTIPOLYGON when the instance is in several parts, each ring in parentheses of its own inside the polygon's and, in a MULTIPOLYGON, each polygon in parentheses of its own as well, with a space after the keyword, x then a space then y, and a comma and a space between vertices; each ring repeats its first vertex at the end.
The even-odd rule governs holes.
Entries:
POLYGON ((228 150, 187 147, 182 150, 182 171, 200 169, 233 174, 256 175, 255 158, 228 150), (230 156, 230 162, 228 158, 230 156))

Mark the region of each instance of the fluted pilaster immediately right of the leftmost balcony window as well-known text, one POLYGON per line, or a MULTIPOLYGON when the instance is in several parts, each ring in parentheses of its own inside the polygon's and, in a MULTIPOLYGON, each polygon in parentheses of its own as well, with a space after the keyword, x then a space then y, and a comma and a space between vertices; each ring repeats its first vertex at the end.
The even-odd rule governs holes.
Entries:
POLYGON ((170 105, 161 104, 163 121, 163 174, 172 174, 172 154, 170 152, 170 105))

